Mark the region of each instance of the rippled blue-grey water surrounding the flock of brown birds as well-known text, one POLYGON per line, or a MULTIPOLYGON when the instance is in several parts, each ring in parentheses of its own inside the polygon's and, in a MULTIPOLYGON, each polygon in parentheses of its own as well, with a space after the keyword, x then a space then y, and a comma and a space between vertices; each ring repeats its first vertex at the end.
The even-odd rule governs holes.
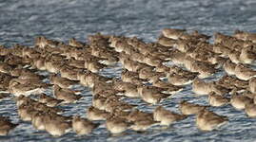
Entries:
MULTIPOLYGON (((74 37, 85 41, 96 32, 125 36, 138 36, 147 42, 156 41, 164 27, 199 30, 212 35, 214 32, 231 34, 235 29, 256 32, 256 1, 254 0, 0 0, 0 44, 32 45, 34 37, 45 35, 49 39, 68 41, 74 37)), ((120 66, 101 72, 105 76, 118 76, 120 66)), ((64 106, 65 115, 83 115, 91 104, 88 88, 77 104, 64 106)), ((207 104, 207 98, 196 98, 190 91, 168 98, 161 104, 169 110, 178 111, 181 99, 207 104)), ((139 109, 152 111, 138 99, 128 102, 139 104, 139 109)), ((195 126, 195 117, 175 123, 167 130, 151 129, 147 133, 111 136, 102 125, 89 136, 67 133, 54 138, 49 133, 39 132, 30 123, 21 122, 11 98, 0 101, 0 115, 10 115, 20 125, 10 135, 0 137, 5 141, 254 141, 256 119, 230 106, 212 108, 219 115, 227 115, 229 122, 218 131, 202 133, 195 126)))

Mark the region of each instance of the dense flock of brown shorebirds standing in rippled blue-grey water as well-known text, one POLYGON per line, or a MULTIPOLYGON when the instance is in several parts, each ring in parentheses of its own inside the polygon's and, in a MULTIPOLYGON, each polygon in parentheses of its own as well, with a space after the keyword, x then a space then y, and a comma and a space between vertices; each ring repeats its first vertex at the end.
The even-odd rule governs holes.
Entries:
MULTIPOLYGON (((239 30, 232 36, 215 33, 213 44, 209 38, 198 31, 164 28, 155 43, 95 34, 89 36, 88 44, 75 39, 65 44, 41 36, 33 47, 1 46, 0 98, 14 97, 20 119, 53 136, 71 130, 78 135, 89 134, 102 123, 110 133, 144 132, 156 125, 168 127, 190 115, 196 115, 200 130, 212 131, 228 118, 208 108, 228 104, 256 117, 256 70, 252 68, 256 62, 256 34, 239 30), (120 78, 98 74, 117 62, 123 65, 120 78), (204 80, 222 69, 225 75, 221 79, 204 80), (49 75, 37 71, 48 71, 49 75), (83 98, 72 89, 78 83, 92 92, 86 118, 61 115, 59 105, 83 98), (180 114, 157 105, 187 85, 197 96, 207 96, 209 105, 183 100, 179 103, 180 114), (49 88, 53 95, 46 94, 49 88), (141 111, 123 98, 142 99, 155 109, 141 111)), ((0 135, 7 135, 17 125, 1 116, 0 135)))

